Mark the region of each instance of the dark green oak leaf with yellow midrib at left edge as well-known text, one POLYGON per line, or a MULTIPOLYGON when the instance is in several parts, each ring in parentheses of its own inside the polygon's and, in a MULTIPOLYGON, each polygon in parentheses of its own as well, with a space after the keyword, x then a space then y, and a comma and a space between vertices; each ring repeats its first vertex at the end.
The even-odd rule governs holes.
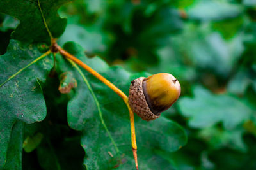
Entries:
POLYGON ((0 56, 0 64, 1 168, 6 161, 13 124, 19 120, 31 124, 45 118, 45 101, 39 80, 45 80, 52 62, 38 51, 36 45, 22 45, 11 40, 7 52, 0 56))

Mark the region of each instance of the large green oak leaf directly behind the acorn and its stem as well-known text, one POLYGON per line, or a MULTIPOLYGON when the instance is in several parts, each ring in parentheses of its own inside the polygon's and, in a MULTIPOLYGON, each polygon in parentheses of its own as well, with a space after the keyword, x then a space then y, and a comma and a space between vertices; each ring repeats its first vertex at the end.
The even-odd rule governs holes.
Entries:
MULTIPOLYGON (((131 74, 121 67, 108 67, 98 57, 88 59, 83 48, 75 43, 66 43, 65 49, 99 71, 125 93, 134 78, 148 76, 145 73, 131 74)), ((57 59, 58 65, 61 64, 58 71, 65 72, 68 63, 65 64, 61 57, 57 59)), ((124 101, 86 71, 81 71, 77 66, 69 68, 77 80, 77 87, 74 89, 74 97, 68 102, 68 124, 74 129, 83 130, 81 145, 86 152, 84 164, 88 169, 112 169, 119 166, 120 169, 134 168, 129 112, 124 101)), ((165 161, 155 156, 155 149, 173 152, 186 143, 184 129, 164 116, 153 122, 146 122, 135 115, 135 124, 138 161, 142 169, 161 167, 155 162, 148 163, 153 155, 156 159, 165 161), (145 158, 145 155, 148 157, 145 158)), ((166 164, 165 162, 163 167, 166 164)))

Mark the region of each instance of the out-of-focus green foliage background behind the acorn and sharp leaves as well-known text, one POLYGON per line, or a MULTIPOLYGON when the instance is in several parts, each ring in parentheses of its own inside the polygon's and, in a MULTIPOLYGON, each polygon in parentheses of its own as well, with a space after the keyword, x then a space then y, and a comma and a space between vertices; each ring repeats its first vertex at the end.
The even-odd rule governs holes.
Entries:
MULTIPOLYGON (((60 45, 180 81, 180 99, 163 113, 188 134, 163 155, 174 169, 256 169, 255 0, 77 0, 59 13, 68 18, 60 45)), ((0 21, 3 54, 19 22, 0 21)))

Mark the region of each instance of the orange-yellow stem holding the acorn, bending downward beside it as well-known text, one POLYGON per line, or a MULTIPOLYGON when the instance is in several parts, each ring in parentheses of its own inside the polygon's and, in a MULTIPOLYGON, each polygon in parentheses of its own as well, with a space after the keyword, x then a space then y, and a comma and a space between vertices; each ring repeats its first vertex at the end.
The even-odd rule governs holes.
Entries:
POLYGON ((102 75, 97 73, 97 71, 93 70, 91 67, 87 66, 82 62, 81 60, 77 59, 74 57, 74 55, 71 55, 67 51, 63 50, 60 46, 58 46, 56 43, 53 44, 54 48, 58 50, 58 52, 61 53, 64 57, 67 57, 68 59, 72 60, 73 62, 76 62, 79 66, 83 67, 83 69, 86 69, 89 73, 91 73, 93 76, 95 76, 97 79, 102 81, 105 85, 107 85, 111 90, 113 90, 118 96, 120 96, 123 100, 124 103, 127 105, 127 108, 129 110, 129 115, 130 115, 130 122, 131 122, 131 140, 132 140, 132 152, 136 164, 136 169, 138 169, 138 160, 137 160, 137 145, 136 145, 136 134, 135 134, 135 126, 134 126, 134 113, 131 110, 131 106, 128 101, 128 97, 122 92, 118 87, 113 85, 110 81, 108 81, 106 78, 104 78, 102 75))

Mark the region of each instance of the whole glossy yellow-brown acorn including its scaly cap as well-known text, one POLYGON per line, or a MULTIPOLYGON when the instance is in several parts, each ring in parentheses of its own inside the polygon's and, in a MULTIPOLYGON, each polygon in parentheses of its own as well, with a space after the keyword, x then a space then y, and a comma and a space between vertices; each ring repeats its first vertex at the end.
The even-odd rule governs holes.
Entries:
POLYGON ((159 118, 179 96, 179 81, 172 74, 159 73, 131 81, 129 104, 139 117, 150 121, 159 118))

